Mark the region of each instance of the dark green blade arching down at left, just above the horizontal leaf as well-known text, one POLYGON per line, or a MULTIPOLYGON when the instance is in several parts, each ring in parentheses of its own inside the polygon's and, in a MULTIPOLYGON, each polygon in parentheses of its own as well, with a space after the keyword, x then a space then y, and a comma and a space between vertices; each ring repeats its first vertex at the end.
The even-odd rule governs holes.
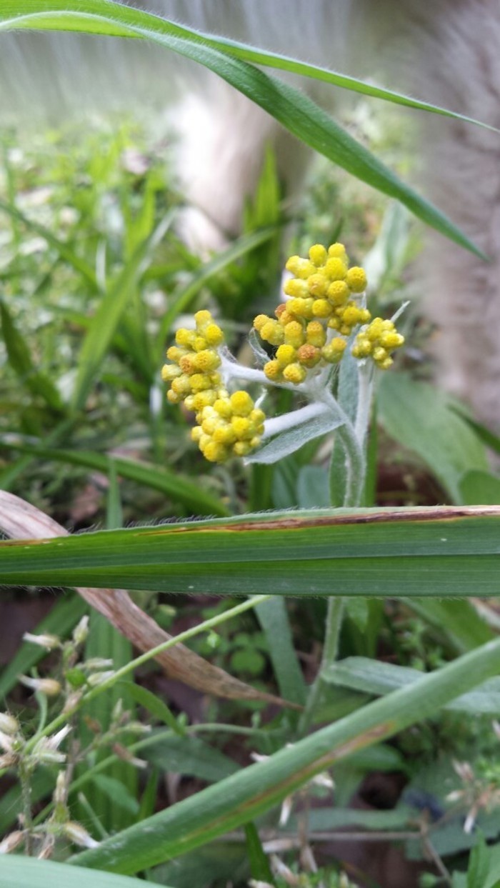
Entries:
POLYGON ((145 487, 160 490, 174 503, 183 503, 194 514, 227 515, 226 507, 220 501, 205 492, 194 481, 187 480, 175 472, 160 469, 156 466, 139 463, 132 459, 124 459, 122 456, 107 456, 94 453, 91 450, 60 450, 56 448, 41 448, 35 444, 21 443, 19 441, 0 441, 0 448, 19 450, 21 453, 33 454, 41 459, 53 459, 60 463, 83 465, 89 469, 97 469, 98 472, 109 471, 112 463, 115 471, 123 478, 136 481, 145 487))

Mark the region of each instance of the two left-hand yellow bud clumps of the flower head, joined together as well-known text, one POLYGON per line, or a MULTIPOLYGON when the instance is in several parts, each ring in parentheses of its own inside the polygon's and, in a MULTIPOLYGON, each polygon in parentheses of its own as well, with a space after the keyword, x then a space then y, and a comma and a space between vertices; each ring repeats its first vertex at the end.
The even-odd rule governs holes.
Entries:
POLYGON ((266 416, 247 392, 230 396, 226 391, 218 373, 218 347, 224 334, 210 312, 196 312, 194 321, 195 329, 179 329, 176 345, 167 351, 172 361, 162 369, 163 382, 171 384, 167 398, 171 404, 184 401, 188 410, 194 410, 197 425, 191 437, 210 462, 247 456, 260 443, 266 416))

